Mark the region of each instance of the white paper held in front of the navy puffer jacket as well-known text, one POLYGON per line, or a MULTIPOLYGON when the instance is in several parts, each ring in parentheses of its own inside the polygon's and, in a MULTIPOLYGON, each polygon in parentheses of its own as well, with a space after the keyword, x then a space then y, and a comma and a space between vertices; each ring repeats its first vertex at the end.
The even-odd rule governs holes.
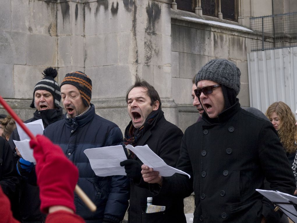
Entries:
POLYGON ((83 152, 89 158, 91 168, 97 176, 126 176, 125 168, 120 166, 121 161, 127 160, 123 146, 91 148, 83 152))

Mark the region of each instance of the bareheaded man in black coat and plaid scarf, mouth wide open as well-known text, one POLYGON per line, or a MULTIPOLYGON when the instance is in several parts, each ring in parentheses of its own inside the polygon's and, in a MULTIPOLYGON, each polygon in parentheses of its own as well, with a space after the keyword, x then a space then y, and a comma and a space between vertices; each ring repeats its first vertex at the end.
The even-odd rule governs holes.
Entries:
MULTIPOLYGON (((135 84, 127 91, 126 101, 131 122, 125 130, 124 143, 132 146, 148 145, 166 164, 175 167, 183 133, 165 119, 158 92, 136 76, 135 84)), ((128 222, 186 222, 183 197, 152 195, 149 183, 144 182, 141 177, 142 164, 132 152, 128 160, 121 162, 131 182, 128 222), (153 205, 165 206, 165 211, 145 213, 147 197, 153 197, 153 205)), ((158 183, 161 181, 156 182, 155 186, 158 187, 158 183)))

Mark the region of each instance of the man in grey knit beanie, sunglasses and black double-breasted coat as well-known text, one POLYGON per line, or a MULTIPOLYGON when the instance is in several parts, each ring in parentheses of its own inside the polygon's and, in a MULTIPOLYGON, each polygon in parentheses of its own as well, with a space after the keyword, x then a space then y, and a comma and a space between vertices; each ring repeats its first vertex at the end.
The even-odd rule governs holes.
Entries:
POLYGON ((160 182, 154 194, 195 192, 194 222, 280 222, 281 212, 255 189, 293 194, 295 180, 272 124, 240 107, 240 71, 233 62, 213 59, 195 78, 202 120, 189 126, 177 167, 191 178, 161 177, 145 165, 145 182, 160 182))

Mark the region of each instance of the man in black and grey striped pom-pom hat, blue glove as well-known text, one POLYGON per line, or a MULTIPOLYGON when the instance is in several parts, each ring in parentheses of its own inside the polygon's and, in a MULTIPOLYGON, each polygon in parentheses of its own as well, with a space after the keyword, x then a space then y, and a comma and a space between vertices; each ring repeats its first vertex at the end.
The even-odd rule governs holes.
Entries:
MULTIPOLYGON (((57 75, 57 70, 53 67, 48 67, 43 71, 43 78, 34 87, 33 100, 30 105, 31 108, 36 108, 36 111, 33 117, 24 123, 41 119, 44 128, 47 128, 51 123, 64 119, 60 107, 60 86, 54 79, 57 75)), ((44 222, 45 215, 40 211, 39 188, 36 184, 34 164, 16 155, 13 140, 20 141, 17 129, 12 132, 9 144, 15 151, 17 171, 22 176, 19 197, 21 221, 44 222)), ((12 206, 15 206, 15 204, 12 204, 12 206)))

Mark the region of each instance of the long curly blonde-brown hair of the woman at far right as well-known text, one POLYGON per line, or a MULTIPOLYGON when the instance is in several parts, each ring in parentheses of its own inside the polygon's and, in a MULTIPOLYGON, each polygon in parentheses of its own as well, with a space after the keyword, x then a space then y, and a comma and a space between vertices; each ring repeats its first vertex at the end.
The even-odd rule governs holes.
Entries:
POLYGON ((297 145, 295 144, 297 138, 297 126, 295 125, 296 119, 290 107, 282 102, 274 102, 271 104, 267 111, 266 116, 270 119, 271 114, 275 112, 279 117, 279 129, 277 131, 279 139, 288 153, 295 153, 297 145))

